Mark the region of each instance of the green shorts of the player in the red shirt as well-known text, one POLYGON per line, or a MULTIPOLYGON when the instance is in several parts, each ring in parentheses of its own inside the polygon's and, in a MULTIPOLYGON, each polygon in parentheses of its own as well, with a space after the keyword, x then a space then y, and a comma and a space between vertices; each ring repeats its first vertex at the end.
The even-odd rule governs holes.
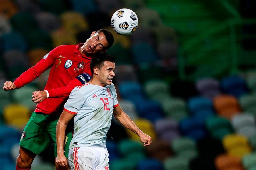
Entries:
MULTIPOLYGON (((43 114, 33 112, 27 125, 24 128, 20 139, 20 146, 40 155, 51 143, 54 144, 54 155, 57 157, 56 125, 59 120, 58 115, 43 114)), ((68 158, 69 144, 72 139, 74 121, 70 121, 66 128, 64 141, 64 154, 68 158)))

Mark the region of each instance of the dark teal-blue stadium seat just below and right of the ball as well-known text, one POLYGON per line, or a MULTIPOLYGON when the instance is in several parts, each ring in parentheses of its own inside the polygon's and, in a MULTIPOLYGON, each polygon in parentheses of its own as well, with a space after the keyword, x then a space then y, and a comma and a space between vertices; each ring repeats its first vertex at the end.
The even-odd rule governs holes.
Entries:
POLYGON ((135 63, 154 63, 158 59, 156 51, 148 43, 133 44, 131 50, 135 63))

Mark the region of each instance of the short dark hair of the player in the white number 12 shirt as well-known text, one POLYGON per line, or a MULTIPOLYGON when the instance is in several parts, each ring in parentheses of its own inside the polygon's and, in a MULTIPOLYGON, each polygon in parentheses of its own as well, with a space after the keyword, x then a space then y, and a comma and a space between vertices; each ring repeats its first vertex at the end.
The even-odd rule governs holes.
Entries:
POLYGON ((94 74, 93 69, 98 68, 101 70, 101 67, 104 66, 104 61, 115 62, 115 58, 105 53, 100 53, 92 57, 90 62, 90 69, 92 72, 92 76, 94 74))

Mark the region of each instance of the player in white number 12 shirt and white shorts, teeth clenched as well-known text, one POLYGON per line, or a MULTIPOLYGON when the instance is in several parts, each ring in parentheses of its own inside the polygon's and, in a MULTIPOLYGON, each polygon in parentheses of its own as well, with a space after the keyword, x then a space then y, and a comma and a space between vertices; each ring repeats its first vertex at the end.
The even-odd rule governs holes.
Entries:
POLYGON ((57 158, 65 166, 63 145, 65 129, 74 117, 74 135, 69 147, 68 164, 71 170, 108 170, 106 137, 112 114, 125 127, 136 133, 144 146, 151 144, 151 137, 144 134, 124 113, 118 104, 115 76, 115 59, 100 54, 91 59, 92 79, 70 93, 56 128, 57 158))

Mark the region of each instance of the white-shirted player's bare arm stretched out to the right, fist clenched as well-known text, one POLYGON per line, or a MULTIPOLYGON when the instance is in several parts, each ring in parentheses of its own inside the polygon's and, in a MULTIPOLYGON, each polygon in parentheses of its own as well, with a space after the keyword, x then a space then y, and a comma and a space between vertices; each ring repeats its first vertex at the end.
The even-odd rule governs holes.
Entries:
POLYGON ((151 137, 143 133, 119 105, 114 107, 113 114, 116 120, 118 120, 125 128, 128 128, 140 137, 140 141, 144 143, 144 146, 149 146, 151 144, 151 137))

